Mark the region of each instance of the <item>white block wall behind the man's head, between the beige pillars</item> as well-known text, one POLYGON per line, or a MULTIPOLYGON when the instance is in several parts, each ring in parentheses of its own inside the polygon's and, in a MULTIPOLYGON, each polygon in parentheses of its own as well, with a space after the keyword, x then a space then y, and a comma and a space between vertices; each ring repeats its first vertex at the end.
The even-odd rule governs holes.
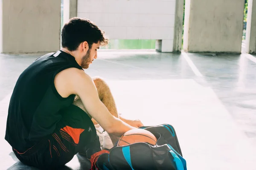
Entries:
POLYGON ((110 39, 162 40, 162 51, 173 51, 176 0, 78 0, 77 7, 110 39))

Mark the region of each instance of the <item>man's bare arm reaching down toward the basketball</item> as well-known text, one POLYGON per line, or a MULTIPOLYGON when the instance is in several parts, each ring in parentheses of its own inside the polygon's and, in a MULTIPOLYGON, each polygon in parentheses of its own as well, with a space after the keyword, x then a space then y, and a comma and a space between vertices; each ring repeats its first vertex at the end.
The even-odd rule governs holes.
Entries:
POLYGON ((105 129, 108 133, 122 136, 134 127, 114 117, 108 108, 101 102, 98 96, 93 79, 78 69, 72 69, 75 73, 71 77, 71 89, 73 94, 80 97, 87 112, 105 129))

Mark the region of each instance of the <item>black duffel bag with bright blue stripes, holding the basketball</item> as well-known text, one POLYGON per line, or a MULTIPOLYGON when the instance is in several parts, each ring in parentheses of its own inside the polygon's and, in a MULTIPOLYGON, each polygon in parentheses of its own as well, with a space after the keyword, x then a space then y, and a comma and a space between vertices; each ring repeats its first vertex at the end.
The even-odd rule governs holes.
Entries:
POLYGON ((145 142, 114 146, 96 161, 96 170, 186 170, 180 144, 172 125, 140 127, 157 138, 156 145, 145 142))

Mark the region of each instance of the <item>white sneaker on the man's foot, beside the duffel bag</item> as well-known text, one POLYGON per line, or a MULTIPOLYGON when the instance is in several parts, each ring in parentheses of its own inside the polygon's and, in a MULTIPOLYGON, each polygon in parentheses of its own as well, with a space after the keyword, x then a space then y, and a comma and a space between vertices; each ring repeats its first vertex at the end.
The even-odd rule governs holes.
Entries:
POLYGON ((108 132, 106 132, 99 124, 95 125, 95 128, 96 133, 99 136, 100 146, 106 149, 111 149, 113 147, 113 143, 108 132))

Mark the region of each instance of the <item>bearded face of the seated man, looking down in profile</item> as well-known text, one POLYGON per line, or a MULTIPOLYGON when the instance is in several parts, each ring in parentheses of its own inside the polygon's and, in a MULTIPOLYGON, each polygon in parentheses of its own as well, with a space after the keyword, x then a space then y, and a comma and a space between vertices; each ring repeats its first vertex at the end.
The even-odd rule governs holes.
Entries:
POLYGON ((89 65, 93 63, 93 59, 97 58, 97 50, 99 49, 99 42, 93 43, 87 53, 81 59, 81 67, 84 69, 89 68, 89 65))

